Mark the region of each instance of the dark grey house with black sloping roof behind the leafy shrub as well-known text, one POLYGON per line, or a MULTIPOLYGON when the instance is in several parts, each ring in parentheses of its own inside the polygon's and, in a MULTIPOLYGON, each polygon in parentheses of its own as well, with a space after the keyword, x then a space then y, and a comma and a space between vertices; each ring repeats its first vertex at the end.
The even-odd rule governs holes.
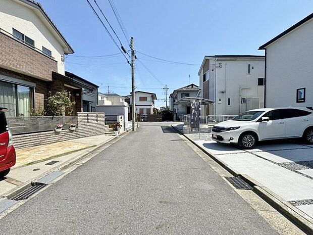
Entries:
MULTIPOLYGON (((65 71, 65 75, 73 79, 73 81, 80 83, 82 87, 82 105, 83 112, 96 112, 96 105, 98 104, 98 88, 99 86, 96 84, 87 81, 84 78, 81 78, 74 73, 70 73, 65 71)), ((70 87, 73 88, 73 87, 70 87)), ((76 89, 80 89, 79 87, 75 87, 76 89)), ((68 89, 68 87, 67 87, 68 89)))

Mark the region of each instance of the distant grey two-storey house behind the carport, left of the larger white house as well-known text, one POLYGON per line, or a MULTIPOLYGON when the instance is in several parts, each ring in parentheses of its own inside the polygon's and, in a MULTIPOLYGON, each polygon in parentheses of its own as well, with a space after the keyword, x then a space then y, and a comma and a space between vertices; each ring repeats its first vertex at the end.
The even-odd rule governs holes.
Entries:
POLYGON ((181 115, 190 114, 191 108, 190 102, 182 104, 177 104, 176 102, 184 99, 184 97, 198 97, 199 91, 199 86, 195 84, 189 84, 173 90, 170 95, 170 110, 174 111, 174 120, 177 120, 181 115))

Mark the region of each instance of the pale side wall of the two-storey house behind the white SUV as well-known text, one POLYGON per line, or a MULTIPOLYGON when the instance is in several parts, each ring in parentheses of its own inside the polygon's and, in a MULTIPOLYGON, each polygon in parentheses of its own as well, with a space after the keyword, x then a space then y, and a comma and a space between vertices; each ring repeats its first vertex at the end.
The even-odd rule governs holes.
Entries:
POLYGON ((241 98, 259 98, 264 107, 264 86, 258 86, 258 78, 264 78, 264 59, 218 60, 222 67, 216 71, 216 114, 237 115, 249 105, 241 104, 241 98), (248 64, 251 73, 248 74, 248 64), (253 67, 253 69, 252 69, 253 67), (230 98, 230 105, 228 105, 230 98), (221 101, 220 101, 221 99, 221 101))

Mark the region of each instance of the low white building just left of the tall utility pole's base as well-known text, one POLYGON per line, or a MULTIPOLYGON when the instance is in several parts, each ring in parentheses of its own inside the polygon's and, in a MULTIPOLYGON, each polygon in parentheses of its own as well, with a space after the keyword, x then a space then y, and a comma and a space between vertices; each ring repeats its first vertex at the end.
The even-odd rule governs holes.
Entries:
POLYGON ((128 103, 125 102, 125 97, 116 93, 101 93, 98 92, 97 112, 104 112, 107 116, 123 115, 124 120, 128 121, 128 103))

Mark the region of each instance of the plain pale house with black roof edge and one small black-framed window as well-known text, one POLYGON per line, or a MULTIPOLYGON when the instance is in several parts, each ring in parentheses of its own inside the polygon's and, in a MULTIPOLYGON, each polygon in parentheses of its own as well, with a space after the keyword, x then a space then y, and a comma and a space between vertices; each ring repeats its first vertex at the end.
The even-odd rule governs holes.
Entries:
POLYGON ((259 47, 265 107, 313 106, 313 13, 259 47))

